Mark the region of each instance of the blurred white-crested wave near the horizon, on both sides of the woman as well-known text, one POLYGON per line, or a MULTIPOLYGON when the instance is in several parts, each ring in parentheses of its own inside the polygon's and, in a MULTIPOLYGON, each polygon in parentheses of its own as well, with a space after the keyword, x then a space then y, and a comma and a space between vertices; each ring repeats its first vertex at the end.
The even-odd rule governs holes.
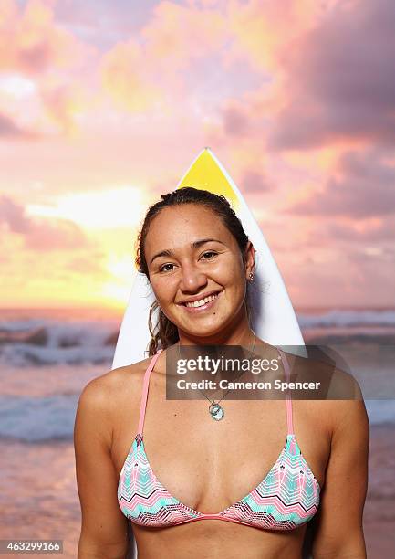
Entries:
MULTIPOLYGON (((307 341, 313 335, 322 343, 323 337, 334 333, 341 338, 348 336, 349 342, 352 336, 360 335, 376 336, 378 343, 379 335, 384 336, 381 343, 394 340, 393 310, 305 311, 297 313, 297 319, 307 341), (385 338, 387 334, 392 337, 385 338)), ((114 357, 119 330, 120 321, 110 319, 11 317, 0 321, 0 365, 102 364, 108 367, 114 357)), ((332 338, 328 340, 335 343, 332 338)))

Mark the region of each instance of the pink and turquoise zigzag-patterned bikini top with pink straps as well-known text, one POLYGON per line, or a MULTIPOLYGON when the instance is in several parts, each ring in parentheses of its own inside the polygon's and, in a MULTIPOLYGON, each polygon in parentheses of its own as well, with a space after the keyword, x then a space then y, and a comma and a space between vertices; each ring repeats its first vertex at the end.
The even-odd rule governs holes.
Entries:
MULTIPOLYGON (((311 520, 318 509, 320 486, 296 442, 289 391, 286 395, 286 444, 264 480, 248 495, 221 512, 203 513, 183 504, 163 487, 151 469, 142 433, 150 375, 161 351, 152 356, 144 374, 139 430, 120 471, 118 502, 130 522, 165 528, 213 519, 266 530, 293 530, 311 520)), ((278 351, 288 381, 290 372, 286 354, 278 351)))

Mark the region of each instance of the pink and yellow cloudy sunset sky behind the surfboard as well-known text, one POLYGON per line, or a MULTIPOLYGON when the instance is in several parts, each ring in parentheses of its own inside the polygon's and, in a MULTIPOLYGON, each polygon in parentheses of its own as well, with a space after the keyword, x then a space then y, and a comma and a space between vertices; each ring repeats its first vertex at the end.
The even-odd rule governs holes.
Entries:
POLYGON ((210 146, 296 307, 395 306, 393 0, 0 0, 0 307, 128 300, 210 146))

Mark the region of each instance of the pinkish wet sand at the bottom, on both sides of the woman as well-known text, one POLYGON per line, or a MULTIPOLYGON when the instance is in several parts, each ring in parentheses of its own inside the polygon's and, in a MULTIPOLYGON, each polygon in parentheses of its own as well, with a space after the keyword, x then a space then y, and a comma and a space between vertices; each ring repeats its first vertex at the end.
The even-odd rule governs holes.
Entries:
MULTIPOLYGON (((394 441, 395 426, 371 427, 364 514, 369 559, 395 556, 394 441)), ((25 444, 3 439, 0 453, 0 539, 61 539, 63 557, 75 559, 80 509, 72 441, 25 444)))

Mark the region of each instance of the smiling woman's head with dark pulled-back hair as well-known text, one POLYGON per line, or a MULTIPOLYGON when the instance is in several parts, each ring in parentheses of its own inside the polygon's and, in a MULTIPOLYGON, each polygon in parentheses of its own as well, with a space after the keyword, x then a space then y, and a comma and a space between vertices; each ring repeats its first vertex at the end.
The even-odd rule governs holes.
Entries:
POLYGON ((182 327, 190 330, 192 316, 196 322, 190 335, 199 337, 194 343, 221 343, 234 318, 248 324, 251 282, 246 278, 254 271, 254 247, 223 196, 182 188, 162 199, 146 216, 136 258, 156 296, 150 313, 150 355, 159 342, 162 346, 178 342, 182 327), (213 293, 221 293, 221 301, 201 309, 186 305, 213 293), (160 331, 153 333, 152 315, 157 308, 160 331), (213 312, 203 312, 209 309, 213 312))

